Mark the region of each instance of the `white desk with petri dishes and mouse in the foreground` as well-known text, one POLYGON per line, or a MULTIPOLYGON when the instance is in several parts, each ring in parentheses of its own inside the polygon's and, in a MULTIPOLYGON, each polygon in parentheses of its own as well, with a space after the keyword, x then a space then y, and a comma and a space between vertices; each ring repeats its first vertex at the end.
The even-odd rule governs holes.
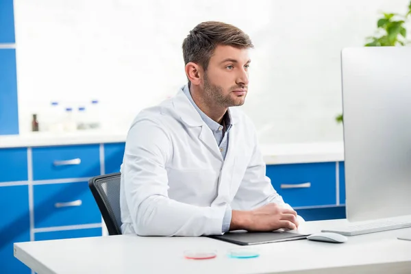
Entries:
MULTIPOLYGON (((319 232, 346 220, 301 225, 319 232)), ((411 228, 349 237, 332 244, 310 240, 256 245, 260 257, 232 259, 240 247, 206 237, 105 236, 14 244, 14 256, 39 274, 65 273, 411 273, 411 241, 397 240, 411 228), (215 249, 212 260, 187 260, 186 249, 215 249)))

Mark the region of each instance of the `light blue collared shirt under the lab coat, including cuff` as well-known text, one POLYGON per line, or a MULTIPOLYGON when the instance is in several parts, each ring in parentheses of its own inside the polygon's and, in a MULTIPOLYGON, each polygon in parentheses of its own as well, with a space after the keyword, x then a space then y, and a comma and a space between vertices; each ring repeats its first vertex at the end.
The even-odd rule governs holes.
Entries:
MULTIPOLYGON (((210 127, 212 134, 214 134, 214 138, 216 138, 217 145, 219 145, 219 149, 221 151, 221 155, 223 155, 223 159, 225 159, 225 155, 227 155, 227 149, 228 149, 228 138, 229 138, 229 129, 231 129, 232 124, 230 122, 230 117, 229 117, 229 111, 225 113, 223 116, 223 120, 225 122, 225 127, 224 129, 223 125, 220 125, 216 121, 212 120, 209 116, 207 116, 200 108, 196 105, 195 101, 192 99, 190 89, 188 88, 188 85, 184 86, 183 88, 184 93, 194 105, 194 108, 199 112, 201 119, 203 119, 204 123, 210 127)), ((229 231, 229 225, 231 223, 232 219, 232 209, 230 206, 227 206, 227 210, 225 210, 225 215, 223 218, 223 232, 228 232, 229 231)))

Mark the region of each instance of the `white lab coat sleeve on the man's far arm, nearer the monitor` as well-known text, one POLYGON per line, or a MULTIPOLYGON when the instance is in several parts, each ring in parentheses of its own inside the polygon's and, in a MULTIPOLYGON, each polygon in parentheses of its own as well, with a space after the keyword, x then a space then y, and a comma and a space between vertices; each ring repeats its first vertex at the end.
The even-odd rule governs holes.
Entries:
MULTIPOLYGON (((262 158, 257 135, 254 134, 251 160, 234 197, 234 204, 240 210, 252 210, 267 203, 277 203, 282 208, 292 209, 273 188, 271 179, 266 176, 266 164, 262 158)), ((298 219, 300 223, 304 221, 301 216, 298 216, 298 219)))

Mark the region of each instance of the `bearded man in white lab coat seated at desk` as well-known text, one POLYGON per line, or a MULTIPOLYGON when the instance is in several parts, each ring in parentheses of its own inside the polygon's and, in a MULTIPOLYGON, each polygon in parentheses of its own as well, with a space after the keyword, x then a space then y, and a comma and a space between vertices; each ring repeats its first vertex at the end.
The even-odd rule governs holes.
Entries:
POLYGON ((121 231, 201 236, 299 225, 265 175, 242 105, 249 84, 247 34, 220 22, 197 25, 182 45, 188 84, 143 110, 121 166, 121 231))

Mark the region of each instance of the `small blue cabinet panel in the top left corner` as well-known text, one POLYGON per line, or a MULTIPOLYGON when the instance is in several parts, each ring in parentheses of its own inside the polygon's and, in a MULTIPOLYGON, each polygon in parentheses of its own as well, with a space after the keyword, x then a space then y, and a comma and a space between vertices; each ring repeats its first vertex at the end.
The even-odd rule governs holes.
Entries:
POLYGON ((14 43, 13 0, 0 0, 0 43, 14 43))

